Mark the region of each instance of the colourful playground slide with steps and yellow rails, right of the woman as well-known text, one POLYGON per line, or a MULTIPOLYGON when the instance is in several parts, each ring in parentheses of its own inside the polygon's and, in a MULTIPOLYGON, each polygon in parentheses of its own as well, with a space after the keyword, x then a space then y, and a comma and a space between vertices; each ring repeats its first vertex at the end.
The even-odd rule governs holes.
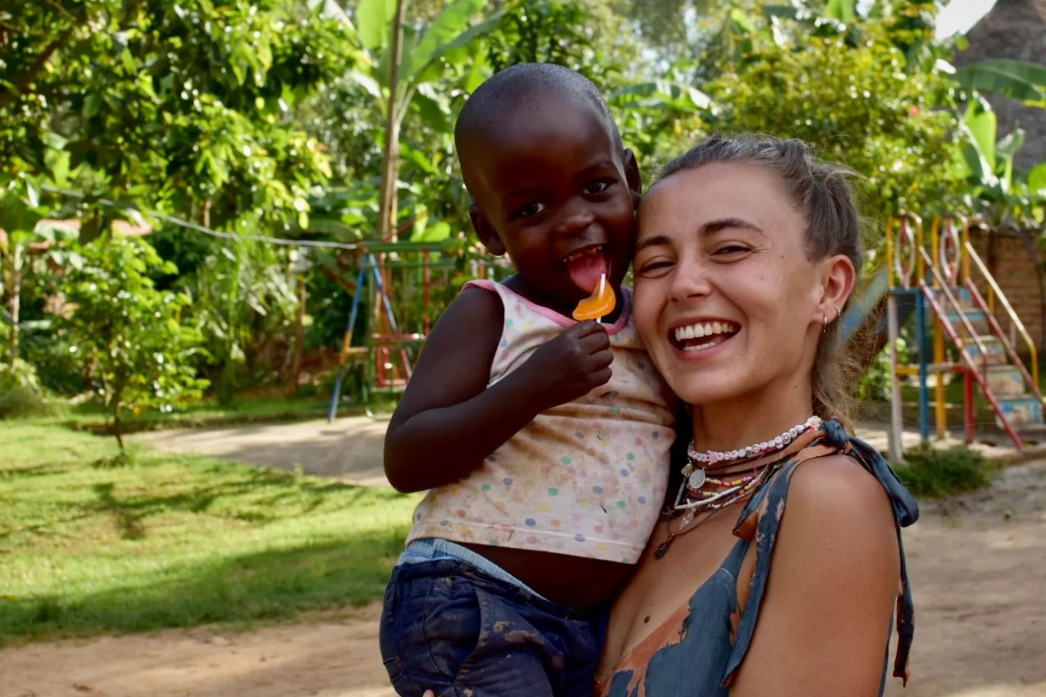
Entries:
POLYGON ((890 457, 894 461, 902 457, 899 378, 904 375, 918 377, 918 420, 924 442, 930 439, 931 429, 931 374, 939 437, 948 432, 948 373, 962 376, 967 442, 974 440, 975 386, 992 405, 996 423, 1018 449, 1024 447, 1019 431, 1043 423, 1036 345, 970 242, 970 227, 959 215, 937 218, 930 231, 928 251, 917 215, 903 213, 891 218, 886 230, 886 263, 843 318, 844 341, 854 341, 858 329, 870 324, 867 328, 874 342, 870 348, 878 352, 886 345, 896 347, 901 327, 915 316, 916 363, 899 364, 897 351, 891 351, 890 457), (1023 341, 1030 371, 999 322, 1000 308, 1023 341))

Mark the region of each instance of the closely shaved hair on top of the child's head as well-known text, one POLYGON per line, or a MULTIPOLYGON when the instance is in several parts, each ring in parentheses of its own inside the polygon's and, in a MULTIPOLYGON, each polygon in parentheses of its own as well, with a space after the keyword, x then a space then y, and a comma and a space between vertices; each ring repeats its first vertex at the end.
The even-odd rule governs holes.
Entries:
POLYGON ((454 127, 465 186, 471 179, 472 146, 496 138, 510 116, 538 118, 552 104, 577 101, 592 108, 617 149, 622 149, 621 134, 602 94, 591 80, 569 68, 552 63, 522 63, 480 85, 465 101, 454 127))

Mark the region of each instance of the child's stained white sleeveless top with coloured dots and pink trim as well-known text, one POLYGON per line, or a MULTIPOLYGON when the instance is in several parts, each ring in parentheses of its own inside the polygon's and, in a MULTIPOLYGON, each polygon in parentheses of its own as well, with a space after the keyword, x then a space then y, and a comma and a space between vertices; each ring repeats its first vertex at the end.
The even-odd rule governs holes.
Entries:
MULTIPOLYGON (((575 322, 504 285, 504 328, 487 387, 575 322)), ((408 542, 536 550, 634 564, 657 522, 675 438, 676 397, 646 354, 621 288, 620 318, 608 327, 613 376, 581 399, 539 414, 465 480, 428 492, 408 542)))

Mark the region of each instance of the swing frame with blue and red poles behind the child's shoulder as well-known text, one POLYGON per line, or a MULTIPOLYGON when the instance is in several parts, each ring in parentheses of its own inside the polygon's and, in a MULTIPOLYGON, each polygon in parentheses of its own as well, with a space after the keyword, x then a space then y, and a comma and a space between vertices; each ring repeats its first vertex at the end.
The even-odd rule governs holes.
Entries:
POLYGON ((492 263, 464 260, 449 242, 365 242, 359 249, 356 286, 342 340, 327 421, 338 413, 349 367, 361 368, 360 396, 367 416, 376 393, 403 392, 432 326, 432 308, 445 307, 463 283, 462 266, 485 278, 492 263), (456 282, 459 281, 459 282, 456 282), (438 297, 434 297, 438 296, 438 297), (353 335, 363 334, 358 346, 353 335))

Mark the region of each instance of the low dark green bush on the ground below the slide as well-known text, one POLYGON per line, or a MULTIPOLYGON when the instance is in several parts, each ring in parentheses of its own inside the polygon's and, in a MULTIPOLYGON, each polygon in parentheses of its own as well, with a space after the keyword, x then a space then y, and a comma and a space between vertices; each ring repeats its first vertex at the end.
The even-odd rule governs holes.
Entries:
POLYGON ((927 498, 973 491, 992 481, 984 456, 965 446, 948 450, 920 446, 905 452, 905 464, 893 469, 912 494, 927 498))

